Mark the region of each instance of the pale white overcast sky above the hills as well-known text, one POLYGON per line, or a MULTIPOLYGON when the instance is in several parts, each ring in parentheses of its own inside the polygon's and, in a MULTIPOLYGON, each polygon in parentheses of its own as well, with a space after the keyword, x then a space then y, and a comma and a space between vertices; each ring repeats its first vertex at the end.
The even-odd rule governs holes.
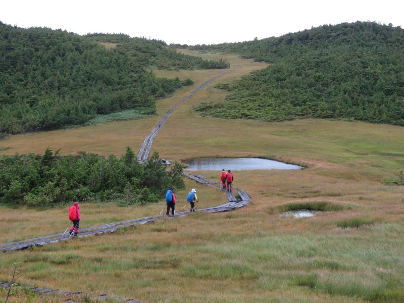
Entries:
POLYGON ((403 12, 402 0, 3 0, 0 21, 194 45, 279 37, 342 22, 404 27, 403 12))

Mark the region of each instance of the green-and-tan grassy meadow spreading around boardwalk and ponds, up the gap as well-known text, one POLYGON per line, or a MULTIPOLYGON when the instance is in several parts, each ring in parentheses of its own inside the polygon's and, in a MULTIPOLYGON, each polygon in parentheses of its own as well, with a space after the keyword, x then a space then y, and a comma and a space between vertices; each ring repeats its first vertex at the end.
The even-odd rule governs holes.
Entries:
MULTIPOLYGON (((178 108, 155 138, 153 150, 170 161, 251 156, 307 169, 233 170, 233 186, 252 197, 243 209, 166 218, 113 235, 7 252, 0 258, 0 280, 9 279, 13 264, 20 264, 23 285, 146 302, 404 301, 404 187, 384 185, 404 170, 403 128, 314 119, 266 123, 200 117, 192 111, 195 106, 225 97, 215 84, 265 67, 230 55, 200 56, 228 60, 235 69, 178 108), (280 216, 282 206, 289 204, 335 208, 311 218, 280 216)), ((189 77, 195 84, 160 100, 158 116, 16 135, 0 141, 0 153, 44 153, 48 146, 62 148, 62 155, 86 151, 120 156, 126 146, 136 153, 172 104, 220 73, 155 72, 189 77)), ((218 180, 220 172, 198 173, 218 180)), ((190 180, 186 185, 177 193, 179 209, 191 188, 198 192, 196 209, 226 201, 218 190, 190 180)), ((128 208, 83 203, 81 227, 157 215, 164 205, 163 200, 128 208)), ((0 209, 2 243, 63 232, 69 223, 67 206, 0 209)))

